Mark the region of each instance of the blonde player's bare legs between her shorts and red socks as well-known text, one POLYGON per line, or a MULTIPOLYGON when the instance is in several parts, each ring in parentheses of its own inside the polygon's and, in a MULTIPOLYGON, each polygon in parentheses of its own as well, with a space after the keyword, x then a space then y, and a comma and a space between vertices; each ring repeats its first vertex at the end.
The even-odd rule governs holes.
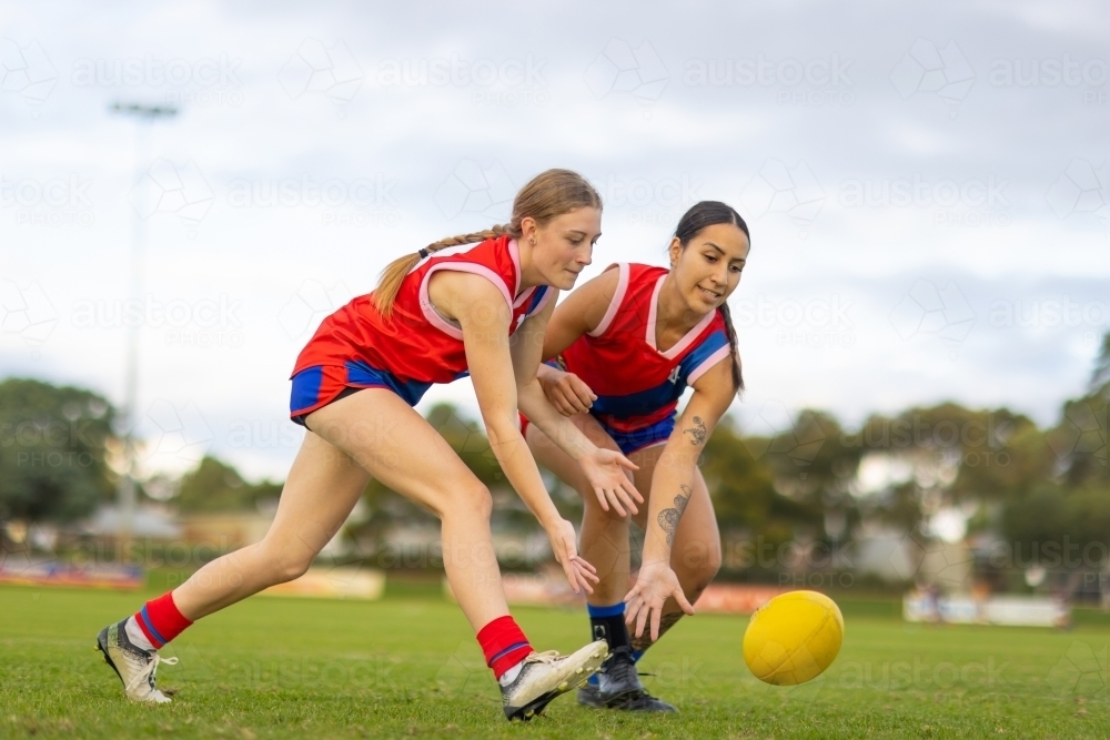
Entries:
POLYGON ((391 391, 366 388, 313 412, 258 545, 199 570, 174 592, 198 619, 304 572, 343 525, 370 476, 440 517, 444 567, 458 604, 481 629, 508 614, 490 533, 490 491, 427 422, 391 391))

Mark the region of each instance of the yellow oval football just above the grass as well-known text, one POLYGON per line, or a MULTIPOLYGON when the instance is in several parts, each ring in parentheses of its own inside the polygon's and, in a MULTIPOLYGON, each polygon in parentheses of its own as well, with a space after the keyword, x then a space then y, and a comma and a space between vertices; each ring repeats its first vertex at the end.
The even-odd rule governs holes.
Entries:
POLYGON ((804 683, 833 665, 844 641, 844 617, 829 597, 790 591, 759 607, 744 633, 744 661, 760 681, 804 683))

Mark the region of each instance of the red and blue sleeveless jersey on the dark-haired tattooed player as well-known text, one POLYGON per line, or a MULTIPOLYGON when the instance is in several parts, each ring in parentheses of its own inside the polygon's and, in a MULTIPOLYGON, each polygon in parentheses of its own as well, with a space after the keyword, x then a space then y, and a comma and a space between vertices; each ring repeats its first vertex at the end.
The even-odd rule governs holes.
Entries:
POLYGON ((719 310, 659 352, 655 323, 668 271, 635 263, 616 268, 617 290, 602 322, 562 356, 566 369, 597 394, 591 413, 613 429, 633 432, 670 416, 686 386, 731 352, 719 310))

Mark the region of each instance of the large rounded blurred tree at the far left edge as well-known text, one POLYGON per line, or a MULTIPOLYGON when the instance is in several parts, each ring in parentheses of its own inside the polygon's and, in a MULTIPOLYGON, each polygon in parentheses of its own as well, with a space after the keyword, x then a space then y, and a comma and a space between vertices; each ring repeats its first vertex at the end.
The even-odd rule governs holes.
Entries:
POLYGON ((0 382, 0 518, 69 521, 111 499, 114 416, 91 391, 0 382))

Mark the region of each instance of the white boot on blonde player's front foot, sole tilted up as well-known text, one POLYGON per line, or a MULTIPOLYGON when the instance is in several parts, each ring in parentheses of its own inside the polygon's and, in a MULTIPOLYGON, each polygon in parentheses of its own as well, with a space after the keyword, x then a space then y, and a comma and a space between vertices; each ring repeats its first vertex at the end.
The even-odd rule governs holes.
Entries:
POLYGON ((501 687, 505 717, 532 719, 552 699, 582 686, 608 657, 609 647, 605 640, 591 642, 569 656, 561 656, 555 650, 533 652, 522 661, 519 676, 508 686, 501 687))

